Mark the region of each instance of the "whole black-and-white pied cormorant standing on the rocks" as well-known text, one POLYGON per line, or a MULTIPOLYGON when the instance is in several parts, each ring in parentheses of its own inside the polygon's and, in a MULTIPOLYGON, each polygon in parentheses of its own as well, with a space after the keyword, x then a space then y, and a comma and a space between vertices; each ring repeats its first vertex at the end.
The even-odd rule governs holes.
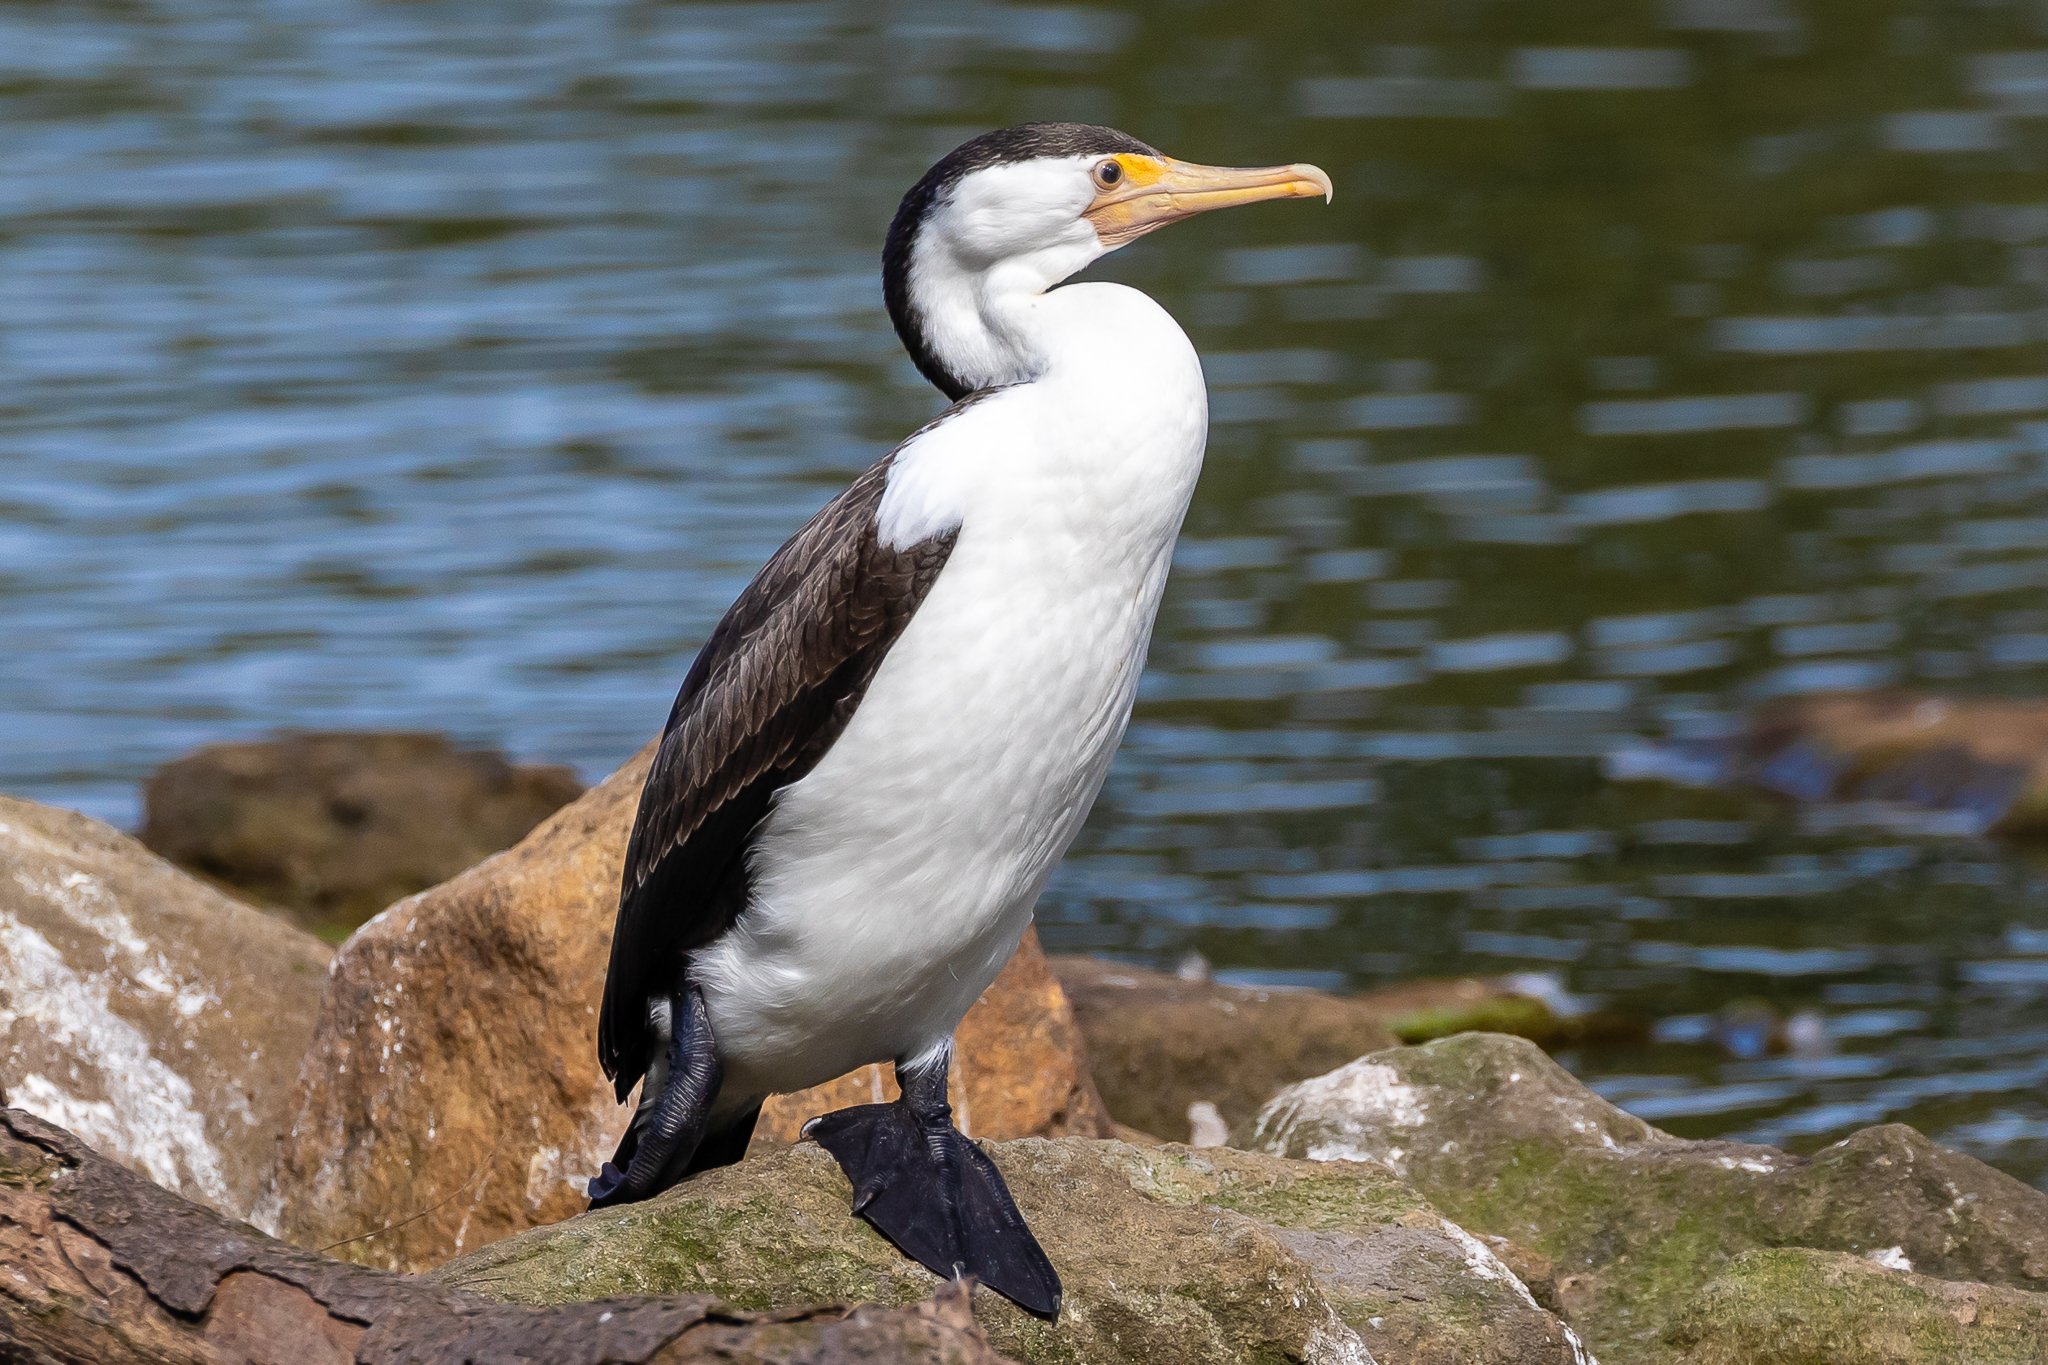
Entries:
POLYGON ((946 156, 883 252, 952 407, 791 536, 698 651, 627 847, 598 1058, 641 1083, 592 1205, 739 1160, 766 1095, 895 1062, 813 1119, 854 1212, 938 1275, 1059 1312, 1059 1275, 952 1126, 952 1029, 1016 950, 1122 739, 1208 436, 1149 297, 1061 280, 1167 223, 1321 196, 1030 123, 946 156))

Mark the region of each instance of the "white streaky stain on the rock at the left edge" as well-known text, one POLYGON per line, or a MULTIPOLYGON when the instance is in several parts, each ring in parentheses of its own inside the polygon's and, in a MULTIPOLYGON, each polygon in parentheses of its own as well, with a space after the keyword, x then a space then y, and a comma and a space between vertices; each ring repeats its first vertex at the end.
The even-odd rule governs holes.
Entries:
MULTIPOLYGON (((119 919, 125 925, 127 917, 119 919)), ((131 927, 127 935, 133 935, 131 927)), ((27 1023, 51 1050, 90 1058, 106 1095, 82 1099, 47 1076, 27 1074, 8 1087, 8 1099, 100 1150, 125 1156, 164 1189, 225 1207, 221 1156, 207 1142, 190 1083, 152 1056, 147 1036, 113 1011, 109 978, 80 976, 49 939, 4 911, 0 956, 8 960, 12 982, 12 990, 0 997, 6 1001, 0 1005, 0 1031, 27 1023)))

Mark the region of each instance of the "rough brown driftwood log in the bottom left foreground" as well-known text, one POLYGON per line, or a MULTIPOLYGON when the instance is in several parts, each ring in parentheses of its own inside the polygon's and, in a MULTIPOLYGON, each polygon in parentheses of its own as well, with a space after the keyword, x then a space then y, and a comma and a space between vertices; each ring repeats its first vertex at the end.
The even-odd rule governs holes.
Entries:
POLYGON ((913 1310, 709 1295, 489 1304, 268 1238, 0 1109, 0 1365, 1004 1365, 969 1291, 913 1310))

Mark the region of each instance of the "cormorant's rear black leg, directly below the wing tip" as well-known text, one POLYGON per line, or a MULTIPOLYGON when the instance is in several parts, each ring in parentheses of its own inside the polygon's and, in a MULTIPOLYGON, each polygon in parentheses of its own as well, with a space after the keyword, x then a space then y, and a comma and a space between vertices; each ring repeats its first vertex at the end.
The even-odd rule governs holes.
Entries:
POLYGON ((594 1209, 633 1203, 680 1181, 705 1136, 711 1103, 725 1078, 705 997, 696 986, 684 986, 668 1001, 655 1001, 649 1013, 668 1048, 641 1081, 641 1103, 633 1111, 627 1136, 618 1140, 618 1150, 590 1181, 594 1209))

